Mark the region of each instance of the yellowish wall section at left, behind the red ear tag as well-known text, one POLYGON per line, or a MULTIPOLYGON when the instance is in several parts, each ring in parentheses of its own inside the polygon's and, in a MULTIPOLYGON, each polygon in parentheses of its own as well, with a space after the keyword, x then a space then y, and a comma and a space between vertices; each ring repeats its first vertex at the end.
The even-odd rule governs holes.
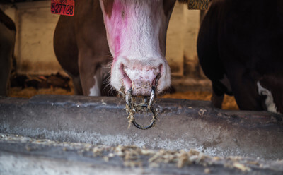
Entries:
POLYGON ((53 50, 53 33, 59 16, 50 13, 50 1, 2 6, 16 23, 15 57, 18 73, 64 72, 53 50))

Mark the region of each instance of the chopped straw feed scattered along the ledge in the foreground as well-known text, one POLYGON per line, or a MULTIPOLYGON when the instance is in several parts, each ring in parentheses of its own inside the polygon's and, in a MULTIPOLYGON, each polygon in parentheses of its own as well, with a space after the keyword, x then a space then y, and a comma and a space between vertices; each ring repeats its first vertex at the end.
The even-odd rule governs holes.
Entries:
MULTIPOLYGON (((212 157, 204 155, 197 150, 151 150, 146 147, 137 146, 108 146, 92 145, 89 143, 67 143, 52 141, 47 139, 35 139, 0 133, 0 141, 9 143, 26 143, 25 150, 35 151, 38 147, 35 145, 60 146, 62 151, 76 150, 81 156, 86 152, 92 152, 93 157, 101 157, 105 162, 109 162, 115 157, 120 157, 125 167, 161 167, 162 164, 172 164, 175 167, 182 168, 198 164, 204 167, 204 173, 209 174, 211 166, 222 166, 229 169, 239 169, 243 172, 253 171, 253 169, 273 169, 273 163, 265 164, 260 159, 251 159, 248 157, 212 157), (263 166, 265 164, 265 166, 263 166)), ((40 148, 39 148, 40 149, 40 148)), ((275 162, 279 164, 280 162, 275 162)))

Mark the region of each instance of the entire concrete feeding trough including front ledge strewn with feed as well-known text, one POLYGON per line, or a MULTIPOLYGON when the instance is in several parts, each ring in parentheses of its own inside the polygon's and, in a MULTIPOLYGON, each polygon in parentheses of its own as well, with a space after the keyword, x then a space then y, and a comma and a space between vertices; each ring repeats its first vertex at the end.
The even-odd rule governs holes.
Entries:
MULTIPOLYGON (((156 126, 142 131, 128 128, 116 97, 0 97, 0 174, 283 173, 281 114, 186 99, 157 99, 155 107, 156 126)), ((146 124, 151 116, 136 118, 146 124)))

